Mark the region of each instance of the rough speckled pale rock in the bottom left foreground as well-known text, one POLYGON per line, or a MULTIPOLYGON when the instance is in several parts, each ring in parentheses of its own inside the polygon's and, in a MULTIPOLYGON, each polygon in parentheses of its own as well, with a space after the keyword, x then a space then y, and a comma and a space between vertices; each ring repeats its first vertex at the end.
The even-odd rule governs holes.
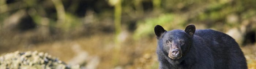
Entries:
POLYGON ((37 51, 7 53, 0 56, 2 69, 80 69, 79 65, 68 66, 48 53, 37 51))

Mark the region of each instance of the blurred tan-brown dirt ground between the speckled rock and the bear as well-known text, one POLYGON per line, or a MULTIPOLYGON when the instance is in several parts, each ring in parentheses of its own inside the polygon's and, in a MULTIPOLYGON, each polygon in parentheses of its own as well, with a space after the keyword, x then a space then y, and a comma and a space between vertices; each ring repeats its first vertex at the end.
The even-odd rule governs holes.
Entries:
MULTIPOLYGON (((69 65, 79 64, 90 69, 157 69, 158 61, 155 53, 156 38, 133 40, 127 36, 121 42, 120 51, 114 50, 114 35, 94 35, 74 40, 60 40, 36 45, 20 46, 1 51, 3 53, 35 51, 47 52, 69 65), (115 55, 117 54, 117 55, 115 55)), ((248 68, 256 67, 256 45, 241 46, 247 59, 248 68)))

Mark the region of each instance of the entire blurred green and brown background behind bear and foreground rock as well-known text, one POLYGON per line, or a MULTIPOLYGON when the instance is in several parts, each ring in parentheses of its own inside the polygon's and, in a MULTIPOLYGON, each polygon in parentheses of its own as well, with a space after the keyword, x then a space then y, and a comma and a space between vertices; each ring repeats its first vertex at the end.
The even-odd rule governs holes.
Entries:
POLYGON ((214 29, 256 69, 256 0, 0 0, 0 54, 47 52, 87 69, 157 69, 154 26, 214 29))

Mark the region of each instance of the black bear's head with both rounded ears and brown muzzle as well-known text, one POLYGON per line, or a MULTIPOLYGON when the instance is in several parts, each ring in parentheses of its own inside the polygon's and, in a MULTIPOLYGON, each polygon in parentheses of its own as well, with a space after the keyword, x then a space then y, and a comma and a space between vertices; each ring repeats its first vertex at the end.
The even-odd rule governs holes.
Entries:
POLYGON ((166 31, 160 25, 156 25, 154 30, 160 50, 172 60, 178 60, 189 51, 196 28, 191 24, 184 31, 166 31))

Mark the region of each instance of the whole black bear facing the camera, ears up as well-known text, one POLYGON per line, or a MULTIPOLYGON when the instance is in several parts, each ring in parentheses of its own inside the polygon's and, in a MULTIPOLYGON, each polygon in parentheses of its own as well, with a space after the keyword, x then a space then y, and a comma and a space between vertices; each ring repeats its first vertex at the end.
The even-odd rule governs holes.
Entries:
POLYGON ((212 29, 166 31, 156 25, 159 69, 247 69, 246 59, 237 42, 212 29))

